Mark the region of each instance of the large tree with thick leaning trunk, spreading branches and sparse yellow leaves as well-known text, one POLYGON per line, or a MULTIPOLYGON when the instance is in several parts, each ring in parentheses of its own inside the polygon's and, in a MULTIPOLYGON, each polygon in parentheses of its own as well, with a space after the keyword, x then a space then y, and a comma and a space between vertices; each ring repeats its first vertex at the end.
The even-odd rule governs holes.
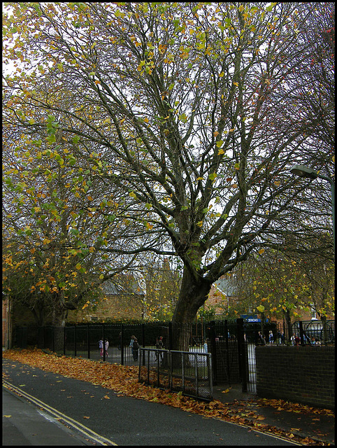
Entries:
POLYGON ((297 3, 9 4, 6 123, 34 135, 54 117, 50 150, 122 198, 129 244, 99 250, 180 259, 173 321, 191 322, 215 280, 282 241, 304 188, 289 167, 317 151, 310 116, 282 113, 308 57, 297 3))

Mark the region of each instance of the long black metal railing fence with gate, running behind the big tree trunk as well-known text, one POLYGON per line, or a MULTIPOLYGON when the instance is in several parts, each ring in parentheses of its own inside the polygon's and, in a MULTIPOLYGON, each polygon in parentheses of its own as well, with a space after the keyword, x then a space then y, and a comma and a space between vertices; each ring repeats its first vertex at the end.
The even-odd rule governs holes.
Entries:
POLYGON ((66 356, 104 360, 121 365, 138 366, 132 351, 131 337, 138 339, 142 349, 212 354, 213 384, 242 384, 243 391, 256 391, 257 371, 255 346, 297 344, 334 344, 334 321, 298 321, 292 325, 275 323, 246 323, 211 321, 207 323, 173 324, 154 323, 86 323, 66 327, 17 327, 13 344, 21 348, 38 346, 66 356), (107 341, 102 352, 99 341, 107 341), (160 344, 159 344, 160 340, 160 344))

